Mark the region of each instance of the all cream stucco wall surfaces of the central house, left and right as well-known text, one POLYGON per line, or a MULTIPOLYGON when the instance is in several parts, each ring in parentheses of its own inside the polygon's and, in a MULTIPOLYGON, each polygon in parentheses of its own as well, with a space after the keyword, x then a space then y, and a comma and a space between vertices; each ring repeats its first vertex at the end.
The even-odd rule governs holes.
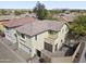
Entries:
MULTIPOLYGON (((58 33, 58 38, 54 40, 53 43, 53 51, 54 51, 54 46, 58 43, 58 49, 62 46, 62 43, 64 42, 64 38, 66 33, 69 31, 67 26, 64 24, 63 27, 61 28, 61 30, 58 33), (63 42, 61 42, 61 39, 63 40, 63 42)), ((22 36, 19 34, 19 47, 20 48, 24 48, 20 42, 22 42, 23 44, 25 44, 26 47, 28 47, 32 51, 30 54, 32 56, 34 56, 37 52, 36 50, 44 50, 45 47, 45 38, 48 38, 50 36, 50 34, 48 31, 44 31, 39 35, 37 35, 37 40, 35 40, 35 36, 29 38, 28 36, 25 35, 25 39, 22 38, 22 36), (23 41, 21 41, 21 39, 23 41)), ((49 43, 49 42, 48 42, 49 43)), ((29 51, 28 51, 29 53, 29 51)))

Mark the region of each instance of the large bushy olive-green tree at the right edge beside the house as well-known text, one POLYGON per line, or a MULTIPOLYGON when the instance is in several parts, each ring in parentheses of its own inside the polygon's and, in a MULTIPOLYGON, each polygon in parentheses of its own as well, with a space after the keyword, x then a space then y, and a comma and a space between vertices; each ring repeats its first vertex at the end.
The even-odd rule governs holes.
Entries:
POLYGON ((86 35, 86 16, 81 15, 74 20, 74 24, 71 25, 71 30, 79 36, 86 35))

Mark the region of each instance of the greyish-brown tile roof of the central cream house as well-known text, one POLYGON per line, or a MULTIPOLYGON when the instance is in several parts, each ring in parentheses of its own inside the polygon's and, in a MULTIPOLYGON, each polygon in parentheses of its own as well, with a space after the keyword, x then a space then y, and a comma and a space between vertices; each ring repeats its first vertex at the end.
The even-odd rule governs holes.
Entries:
POLYGON ((63 22, 56 21, 36 21, 30 24, 15 28, 19 33, 25 34, 28 36, 35 36, 46 30, 56 30, 59 31, 63 26, 63 22))

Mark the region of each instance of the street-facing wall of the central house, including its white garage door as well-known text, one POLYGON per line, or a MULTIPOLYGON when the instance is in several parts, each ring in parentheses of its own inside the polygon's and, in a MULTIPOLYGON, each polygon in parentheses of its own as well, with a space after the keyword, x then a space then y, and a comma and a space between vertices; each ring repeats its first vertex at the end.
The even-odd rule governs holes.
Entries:
POLYGON ((24 35, 24 37, 25 38, 23 38, 21 34, 17 34, 19 48, 23 49, 32 56, 32 39, 28 38, 26 35, 24 35))

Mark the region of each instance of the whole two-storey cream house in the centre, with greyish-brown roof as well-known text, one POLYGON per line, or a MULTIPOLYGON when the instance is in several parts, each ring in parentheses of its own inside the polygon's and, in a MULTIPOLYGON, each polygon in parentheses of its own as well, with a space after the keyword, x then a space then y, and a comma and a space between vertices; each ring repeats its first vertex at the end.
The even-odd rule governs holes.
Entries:
POLYGON ((69 31, 66 23, 56 21, 36 21, 15 28, 19 48, 30 54, 41 56, 44 49, 54 52, 62 47, 69 31))

